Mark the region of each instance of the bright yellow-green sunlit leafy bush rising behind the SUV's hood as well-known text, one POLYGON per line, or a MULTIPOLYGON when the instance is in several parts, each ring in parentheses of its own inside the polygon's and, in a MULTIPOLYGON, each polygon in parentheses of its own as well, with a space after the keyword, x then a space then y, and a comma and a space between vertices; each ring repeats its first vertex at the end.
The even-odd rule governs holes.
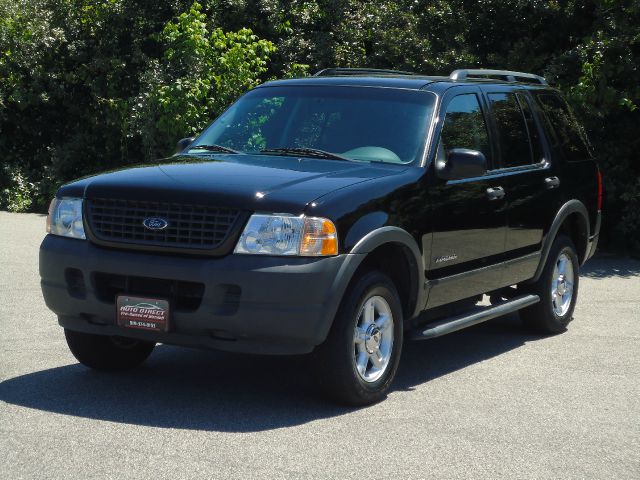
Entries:
POLYGON ((194 3, 160 35, 166 50, 147 73, 134 120, 141 125, 146 156, 171 153, 176 135, 196 135, 245 91, 260 83, 273 44, 247 28, 209 32, 194 3))

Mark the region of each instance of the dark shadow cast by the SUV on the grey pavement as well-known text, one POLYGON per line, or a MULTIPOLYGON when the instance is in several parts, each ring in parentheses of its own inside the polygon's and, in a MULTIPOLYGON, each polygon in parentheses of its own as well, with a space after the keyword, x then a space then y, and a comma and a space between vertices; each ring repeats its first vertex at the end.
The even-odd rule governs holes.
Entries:
MULTIPOLYGON (((510 316, 438 339, 407 342, 394 389, 411 390, 539 338, 510 316)), ((283 428, 353 410, 318 397, 307 357, 164 345, 134 371, 94 372, 73 364, 8 379, 0 384, 0 400, 112 422, 222 432, 283 428)))

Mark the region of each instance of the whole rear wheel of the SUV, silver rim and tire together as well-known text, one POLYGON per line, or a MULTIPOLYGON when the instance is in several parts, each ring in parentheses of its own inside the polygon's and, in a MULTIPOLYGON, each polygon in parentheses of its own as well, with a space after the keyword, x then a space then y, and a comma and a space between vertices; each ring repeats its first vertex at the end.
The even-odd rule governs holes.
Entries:
POLYGON ((540 297, 539 303, 520 311, 527 326, 543 333, 566 330, 578 298, 579 268, 573 242, 566 235, 558 235, 540 278, 526 287, 540 297))

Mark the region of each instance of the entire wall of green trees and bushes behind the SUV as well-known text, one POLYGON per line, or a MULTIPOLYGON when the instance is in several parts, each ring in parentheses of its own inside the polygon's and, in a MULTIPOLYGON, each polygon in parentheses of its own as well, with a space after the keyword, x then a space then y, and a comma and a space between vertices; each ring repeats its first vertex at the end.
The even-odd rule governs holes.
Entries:
POLYGON ((567 95, 604 173, 603 240, 640 253, 637 0, 199 1, 0 0, 0 208, 170 154, 269 78, 499 67, 567 95))

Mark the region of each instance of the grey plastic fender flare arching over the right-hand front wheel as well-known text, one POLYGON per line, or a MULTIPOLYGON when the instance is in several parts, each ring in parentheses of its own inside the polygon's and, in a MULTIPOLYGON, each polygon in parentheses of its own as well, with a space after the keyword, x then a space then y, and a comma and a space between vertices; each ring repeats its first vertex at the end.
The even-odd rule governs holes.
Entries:
MULTIPOLYGON (((398 227, 380 227, 362 237, 353 247, 350 253, 346 254, 346 260, 340 267, 335 281, 331 286, 328 293, 329 301, 327 306, 329 308, 329 315, 331 318, 335 317, 340 302, 344 296, 345 291, 353 278, 354 273, 365 260, 367 254, 375 250, 377 247, 387 244, 397 243, 401 244, 409 249, 411 252, 412 267, 416 269, 416 306, 414 308, 411 318, 415 317, 422 311, 422 307, 426 303, 425 289, 424 289, 424 262, 422 259, 422 253, 418 248, 418 244, 415 239, 405 230, 398 227)), ((405 320, 408 320, 405 319, 405 320)), ((333 322, 327 322, 327 331, 322 332, 323 337, 329 333, 329 328, 333 322)))

